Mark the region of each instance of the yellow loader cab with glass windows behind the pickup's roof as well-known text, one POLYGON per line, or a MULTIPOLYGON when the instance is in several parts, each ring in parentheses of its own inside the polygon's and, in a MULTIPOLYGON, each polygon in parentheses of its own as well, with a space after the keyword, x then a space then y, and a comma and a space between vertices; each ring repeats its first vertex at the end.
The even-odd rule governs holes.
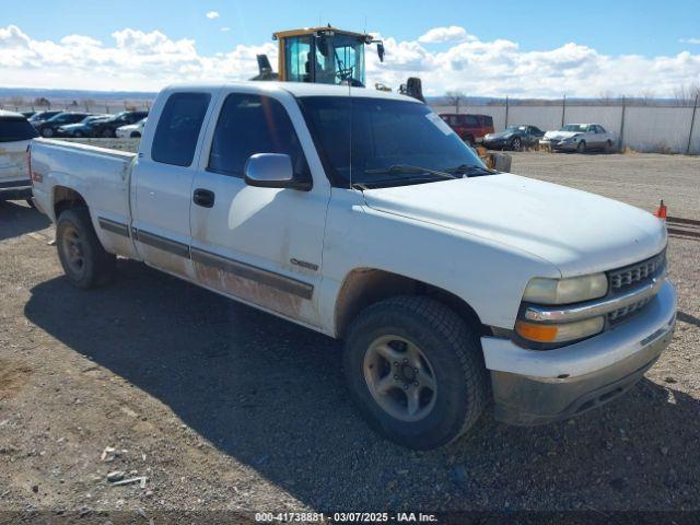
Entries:
MULTIPOLYGON (((259 73, 250 80, 279 80, 282 82, 313 82, 365 86, 364 48, 376 44, 380 61, 384 61, 384 43, 366 33, 354 33, 337 27, 306 27, 272 34, 279 43, 278 72, 272 71, 267 55, 258 55, 259 73)), ((380 90, 388 90, 377 84, 380 90)), ((421 81, 410 78, 399 92, 425 102, 421 81)))

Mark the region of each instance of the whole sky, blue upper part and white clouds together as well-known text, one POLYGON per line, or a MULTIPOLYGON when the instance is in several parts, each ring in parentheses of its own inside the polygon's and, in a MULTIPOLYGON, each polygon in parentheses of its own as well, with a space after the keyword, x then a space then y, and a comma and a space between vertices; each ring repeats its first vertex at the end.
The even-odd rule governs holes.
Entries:
POLYGON ((387 39, 387 59, 369 63, 368 80, 430 77, 433 94, 666 94, 700 82, 700 0, 1 0, 0 84, 117 90, 245 79, 256 52, 276 52, 273 31, 319 21, 366 24, 387 39), (441 27, 453 36, 421 38, 441 27))

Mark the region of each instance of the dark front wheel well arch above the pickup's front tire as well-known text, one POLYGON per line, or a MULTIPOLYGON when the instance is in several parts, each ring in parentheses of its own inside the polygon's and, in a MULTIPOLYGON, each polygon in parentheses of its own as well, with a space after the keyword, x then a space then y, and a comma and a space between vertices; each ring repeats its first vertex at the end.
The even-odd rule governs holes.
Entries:
POLYGON ((338 293, 336 337, 345 337, 350 323, 362 310, 395 295, 423 295, 440 301, 465 323, 479 328, 481 334, 490 334, 490 328, 481 324, 474 308, 454 293, 390 271, 359 268, 346 277, 338 293))

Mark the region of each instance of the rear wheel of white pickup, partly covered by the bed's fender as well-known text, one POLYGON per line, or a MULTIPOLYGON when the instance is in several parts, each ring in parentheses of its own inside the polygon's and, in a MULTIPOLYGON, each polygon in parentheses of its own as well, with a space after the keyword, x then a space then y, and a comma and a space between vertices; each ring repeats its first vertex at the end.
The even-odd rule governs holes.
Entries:
POLYGON ((61 212, 56 223, 56 247, 66 276, 77 288, 96 288, 113 279, 116 257, 102 247, 86 208, 61 212))

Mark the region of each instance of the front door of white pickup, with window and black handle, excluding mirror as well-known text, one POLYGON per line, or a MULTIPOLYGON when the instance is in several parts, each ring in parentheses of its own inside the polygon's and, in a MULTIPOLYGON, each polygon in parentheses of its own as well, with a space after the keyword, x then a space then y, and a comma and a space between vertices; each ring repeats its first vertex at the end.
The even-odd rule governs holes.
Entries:
POLYGON ((192 186, 197 280, 245 303, 318 325, 316 290, 330 186, 299 106, 284 91, 260 94, 244 88, 222 96, 218 105, 192 186), (290 155, 295 174, 311 179, 312 189, 248 186, 244 165, 256 153, 290 155), (314 176, 310 166, 316 166, 314 176))

